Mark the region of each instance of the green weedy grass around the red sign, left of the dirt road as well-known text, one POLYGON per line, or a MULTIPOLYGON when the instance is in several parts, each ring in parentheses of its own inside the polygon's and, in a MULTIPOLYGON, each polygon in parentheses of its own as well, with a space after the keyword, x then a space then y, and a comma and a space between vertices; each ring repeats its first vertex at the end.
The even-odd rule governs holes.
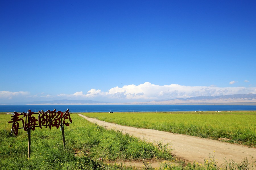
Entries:
MULTIPOLYGON (((174 165, 176 159, 161 142, 154 146, 129 134, 106 130, 77 114, 71 114, 71 118, 72 124, 64 127, 65 148, 60 129, 36 128, 31 131, 31 155, 28 159, 27 133, 20 129, 16 137, 11 135, 11 124, 7 123, 11 120, 11 115, 0 115, 0 169, 155 169, 147 163, 151 159, 167 160, 160 170, 220 169, 214 159, 206 161, 203 165, 196 162, 174 165), (115 164, 127 161, 143 162, 144 166, 121 167, 115 164)), ((251 165, 246 160, 243 163, 226 164, 227 169, 247 169, 249 166, 251 165)))

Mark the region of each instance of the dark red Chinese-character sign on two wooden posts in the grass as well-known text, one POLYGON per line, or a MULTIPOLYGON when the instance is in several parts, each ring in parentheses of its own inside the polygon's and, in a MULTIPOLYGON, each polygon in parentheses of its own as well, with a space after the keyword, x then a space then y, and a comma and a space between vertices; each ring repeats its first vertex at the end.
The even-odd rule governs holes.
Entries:
POLYGON ((51 127, 56 127, 57 129, 61 126, 62 131, 62 139, 63 139, 63 146, 65 147, 65 136, 64 136, 64 125, 69 126, 72 123, 69 109, 63 114, 61 111, 57 111, 53 109, 53 111, 46 111, 43 110, 38 111, 38 119, 33 115, 34 112, 28 110, 27 113, 23 112, 23 114, 13 112, 13 116, 11 116, 11 120, 8 123, 13 123, 11 133, 14 133, 15 136, 18 135, 18 129, 24 129, 28 133, 28 158, 30 157, 30 146, 31 146, 31 130, 35 130, 36 127, 40 127, 42 129, 43 126, 45 128, 51 129, 51 127), (23 115, 22 118, 19 118, 20 115, 23 115), (22 128, 19 128, 19 122, 22 123, 22 128), (38 126, 37 126, 38 125, 38 126))

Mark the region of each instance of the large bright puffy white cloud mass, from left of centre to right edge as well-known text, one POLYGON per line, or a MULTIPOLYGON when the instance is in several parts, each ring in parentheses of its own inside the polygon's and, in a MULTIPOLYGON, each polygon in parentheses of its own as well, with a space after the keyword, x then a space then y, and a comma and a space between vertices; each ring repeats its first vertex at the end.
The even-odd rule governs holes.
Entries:
MULTIPOLYGON (((216 86, 181 86, 179 84, 155 85, 145 82, 139 85, 114 87, 108 92, 91 89, 87 94, 76 92, 66 97, 82 97, 83 99, 102 99, 102 101, 150 101, 161 99, 187 98, 196 96, 218 96, 229 94, 255 93, 256 88, 245 87, 216 87, 216 86)), ((64 95, 63 95, 64 96, 64 95)))

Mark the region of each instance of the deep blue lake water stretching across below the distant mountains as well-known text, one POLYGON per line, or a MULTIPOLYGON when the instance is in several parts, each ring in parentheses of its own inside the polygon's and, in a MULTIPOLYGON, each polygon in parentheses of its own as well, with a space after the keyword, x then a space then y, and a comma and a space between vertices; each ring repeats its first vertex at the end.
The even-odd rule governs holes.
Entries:
POLYGON ((0 105, 0 112, 41 110, 70 112, 177 112, 177 111, 256 111, 256 105, 0 105))

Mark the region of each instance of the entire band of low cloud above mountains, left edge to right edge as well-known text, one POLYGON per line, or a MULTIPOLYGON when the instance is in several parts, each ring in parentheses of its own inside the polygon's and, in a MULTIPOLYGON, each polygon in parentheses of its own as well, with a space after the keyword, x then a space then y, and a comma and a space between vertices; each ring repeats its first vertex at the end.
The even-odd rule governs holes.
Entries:
MULTIPOLYGON (((31 94, 30 92, 0 91, 0 102, 11 103, 18 101, 40 101, 56 99, 97 100, 112 103, 167 100, 198 96, 219 96, 231 94, 256 94, 256 87, 216 87, 216 86, 182 86, 179 84, 155 85, 145 82, 139 85, 125 85, 113 87, 107 92, 91 89, 88 92, 75 92, 74 94, 49 95, 47 92, 31 94)), ((0 103, 0 104, 1 104, 0 103)))

